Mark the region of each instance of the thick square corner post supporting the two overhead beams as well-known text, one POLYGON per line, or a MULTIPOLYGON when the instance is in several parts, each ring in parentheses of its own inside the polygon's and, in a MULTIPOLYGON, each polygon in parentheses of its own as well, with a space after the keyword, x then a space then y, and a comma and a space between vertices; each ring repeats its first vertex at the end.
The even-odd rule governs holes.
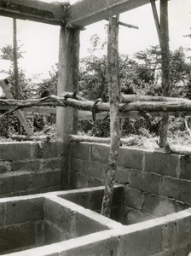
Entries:
MULTIPOLYGON (((69 30, 61 26, 58 96, 66 91, 78 92, 78 63, 79 63, 79 30, 69 30)), ((78 109, 56 108, 56 139, 63 142, 64 157, 61 177, 61 187, 67 189, 69 185, 69 134, 78 131, 78 109)))

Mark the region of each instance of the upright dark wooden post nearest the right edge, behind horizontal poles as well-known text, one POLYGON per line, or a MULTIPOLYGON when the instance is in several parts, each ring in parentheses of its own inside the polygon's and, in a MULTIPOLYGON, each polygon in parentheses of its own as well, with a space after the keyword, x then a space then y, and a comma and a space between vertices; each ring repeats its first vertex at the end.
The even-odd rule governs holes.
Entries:
MULTIPOLYGON (((170 50, 169 50, 169 25, 168 25, 168 0, 160 0, 160 47, 162 67, 163 96, 171 96, 170 83, 170 50)), ((169 113, 164 113, 160 122, 159 147, 167 144, 167 131, 169 113)))

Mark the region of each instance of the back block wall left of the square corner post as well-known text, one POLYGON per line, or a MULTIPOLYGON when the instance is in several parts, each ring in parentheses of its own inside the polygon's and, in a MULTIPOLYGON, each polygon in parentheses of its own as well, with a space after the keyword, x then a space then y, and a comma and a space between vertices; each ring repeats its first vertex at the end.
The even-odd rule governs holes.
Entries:
POLYGON ((0 197, 61 188, 62 143, 0 143, 0 197))

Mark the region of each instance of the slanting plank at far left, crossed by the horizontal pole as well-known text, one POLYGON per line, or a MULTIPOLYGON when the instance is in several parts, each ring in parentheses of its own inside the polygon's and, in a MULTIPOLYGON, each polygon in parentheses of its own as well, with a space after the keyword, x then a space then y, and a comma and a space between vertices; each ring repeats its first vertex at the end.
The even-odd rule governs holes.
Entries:
MULTIPOLYGON (((13 99, 14 98, 12 93, 9 91, 8 86, 7 86, 7 84, 5 83, 4 80, 0 80, 0 86, 2 87, 3 92, 4 92, 4 94, 5 94, 5 96, 7 98, 9 98, 9 99, 13 99)), ((26 130, 27 135, 31 136, 33 134, 33 131, 31 129, 30 125, 28 125, 24 113, 22 113, 22 111, 19 109, 19 110, 15 111, 15 115, 18 117, 18 119, 20 119, 20 124, 26 130)))

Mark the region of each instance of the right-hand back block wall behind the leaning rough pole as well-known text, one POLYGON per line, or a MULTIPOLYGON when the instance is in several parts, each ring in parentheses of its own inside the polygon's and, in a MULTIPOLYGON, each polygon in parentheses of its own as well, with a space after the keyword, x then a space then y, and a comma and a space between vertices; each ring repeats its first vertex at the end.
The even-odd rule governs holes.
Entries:
MULTIPOLYGON (((74 188, 104 184, 109 146, 72 143, 70 177, 74 188)), ((116 182, 123 224, 179 212, 191 206, 191 157, 136 148, 120 148, 116 182)))

